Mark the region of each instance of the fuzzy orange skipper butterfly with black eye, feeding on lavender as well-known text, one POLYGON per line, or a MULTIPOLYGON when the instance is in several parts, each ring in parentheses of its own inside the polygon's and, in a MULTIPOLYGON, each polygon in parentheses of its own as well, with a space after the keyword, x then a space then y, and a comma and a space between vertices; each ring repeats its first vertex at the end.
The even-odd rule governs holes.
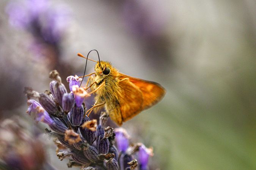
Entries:
MULTIPOLYGON (((86 58, 80 53, 78 56, 86 58)), ((90 76, 86 87, 89 82, 90 86, 86 89, 91 88, 91 93, 95 93, 95 103, 86 114, 90 114, 93 109, 98 111, 105 107, 110 118, 121 126, 123 122, 159 102, 166 93, 159 83, 119 73, 110 62, 94 62, 97 62, 94 66, 95 73, 86 75, 90 76)))

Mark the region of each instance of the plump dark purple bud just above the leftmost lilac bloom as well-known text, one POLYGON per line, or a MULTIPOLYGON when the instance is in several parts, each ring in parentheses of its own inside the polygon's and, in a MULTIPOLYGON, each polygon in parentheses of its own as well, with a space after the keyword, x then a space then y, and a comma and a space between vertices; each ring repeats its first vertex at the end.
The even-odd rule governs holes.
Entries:
POLYGON ((58 111, 58 108, 55 104, 55 102, 45 93, 39 94, 39 102, 42 105, 42 107, 49 113, 49 114, 56 114, 58 111))

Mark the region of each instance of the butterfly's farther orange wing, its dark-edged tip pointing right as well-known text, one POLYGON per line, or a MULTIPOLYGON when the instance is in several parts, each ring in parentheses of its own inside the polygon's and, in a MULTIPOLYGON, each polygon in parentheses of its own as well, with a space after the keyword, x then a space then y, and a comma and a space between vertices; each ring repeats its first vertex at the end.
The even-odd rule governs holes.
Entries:
POLYGON ((118 77, 120 80, 128 78, 129 82, 141 91, 143 96, 143 105, 141 110, 149 108, 159 102, 166 93, 165 89, 159 83, 138 79, 122 73, 119 73, 118 77))

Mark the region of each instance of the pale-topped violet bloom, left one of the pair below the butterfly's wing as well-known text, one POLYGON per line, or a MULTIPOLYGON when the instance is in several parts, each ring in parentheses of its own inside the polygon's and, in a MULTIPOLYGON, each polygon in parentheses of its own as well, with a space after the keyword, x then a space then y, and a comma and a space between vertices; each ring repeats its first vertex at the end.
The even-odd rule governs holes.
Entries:
POLYGON ((125 152, 129 147, 129 135, 124 128, 116 128, 115 129, 115 138, 118 150, 121 152, 125 152))

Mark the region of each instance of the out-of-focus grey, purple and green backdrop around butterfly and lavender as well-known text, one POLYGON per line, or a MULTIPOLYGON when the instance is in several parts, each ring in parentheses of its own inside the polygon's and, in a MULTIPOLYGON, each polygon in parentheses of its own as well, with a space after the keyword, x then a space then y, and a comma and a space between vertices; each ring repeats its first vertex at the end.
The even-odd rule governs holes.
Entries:
MULTIPOLYGON (((53 69, 68 85, 85 67, 76 54, 97 49, 120 72, 166 88, 124 124, 154 148, 151 167, 256 169, 255 9, 254 0, 2 0, 0 120, 19 116, 44 133, 25 113, 24 87, 49 90, 53 69)), ((49 164, 67 169, 42 140, 49 164)))

